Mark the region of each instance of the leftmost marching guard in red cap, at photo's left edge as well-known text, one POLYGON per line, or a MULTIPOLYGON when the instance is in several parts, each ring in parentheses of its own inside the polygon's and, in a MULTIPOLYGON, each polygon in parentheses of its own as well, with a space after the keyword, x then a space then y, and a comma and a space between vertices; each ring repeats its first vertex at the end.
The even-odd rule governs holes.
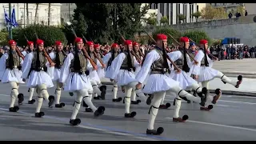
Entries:
POLYGON ((24 101, 23 94, 18 94, 18 87, 20 83, 23 82, 22 79, 22 58, 24 56, 19 50, 17 50, 16 42, 10 40, 9 42, 10 50, 3 54, 0 59, 0 71, 2 71, 2 83, 10 83, 10 112, 17 112, 19 110, 18 106, 14 106, 16 99, 18 98, 18 105, 22 105, 24 101))

